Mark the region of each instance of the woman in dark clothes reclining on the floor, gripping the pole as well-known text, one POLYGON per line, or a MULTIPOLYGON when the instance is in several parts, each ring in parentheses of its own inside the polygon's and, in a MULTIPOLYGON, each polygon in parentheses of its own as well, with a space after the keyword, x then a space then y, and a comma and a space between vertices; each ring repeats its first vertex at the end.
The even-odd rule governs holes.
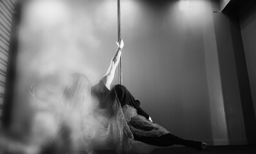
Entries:
MULTIPOLYGON (((111 64, 104 77, 98 84, 91 87, 91 83, 84 74, 75 73, 69 78, 68 86, 64 92, 64 98, 60 107, 59 121, 65 121, 65 113, 70 108, 79 110, 82 119, 82 132, 89 126, 88 118, 96 120, 107 130, 107 142, 116 151, 129 151, 134 139, 154 146, 172 146, 180 144, 196 150, 203 150, 207 144, 181 139, 172 135, 165 128, 152 123, 151 117, 140 108, 140 101, 136 100, 131 92, 123 85, 115 85, 111 89, 111 83, 120 56, 122 54, 123 40, 116 42, 118 49, 111 59, 111 64), (97 100, 98 108, 92 108, 92 100, 97 100), (105 117, 106 121, 98 117, 105 117), (83 121, 86 120, 86 121, 83 121), (82 122, 83 121, 83 122, 82 122)), ((95 103, 95 102, 94 102, 95 103)), ((84 136, 86 139, 90 135, 84 136)))

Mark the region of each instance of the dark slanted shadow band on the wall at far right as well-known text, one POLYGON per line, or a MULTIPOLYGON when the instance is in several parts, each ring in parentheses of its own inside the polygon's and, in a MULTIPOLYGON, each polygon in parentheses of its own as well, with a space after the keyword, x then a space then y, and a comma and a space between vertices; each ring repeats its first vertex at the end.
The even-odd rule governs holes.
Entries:
POLYGON ((256 123, 238 13, 215 15, 215 31, 230 144, 253 144, 256 123))

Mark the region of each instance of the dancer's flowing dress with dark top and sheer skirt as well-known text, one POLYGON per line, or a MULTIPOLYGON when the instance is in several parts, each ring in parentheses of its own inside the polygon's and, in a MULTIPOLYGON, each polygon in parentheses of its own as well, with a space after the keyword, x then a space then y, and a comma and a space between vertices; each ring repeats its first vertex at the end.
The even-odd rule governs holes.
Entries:
POLYGON ((138 137, 160 137, 168 132, 159 124, 152 123, 145 116, 139 115, 131 104, 123 105, 118 99, 116 89, 109 90, 102 80, 92 87, 92 94, 100 102, 100 107, 105 108, 108 116, 107 144, 117 153, 127 153, 131 150, 134 135, 138 137))

